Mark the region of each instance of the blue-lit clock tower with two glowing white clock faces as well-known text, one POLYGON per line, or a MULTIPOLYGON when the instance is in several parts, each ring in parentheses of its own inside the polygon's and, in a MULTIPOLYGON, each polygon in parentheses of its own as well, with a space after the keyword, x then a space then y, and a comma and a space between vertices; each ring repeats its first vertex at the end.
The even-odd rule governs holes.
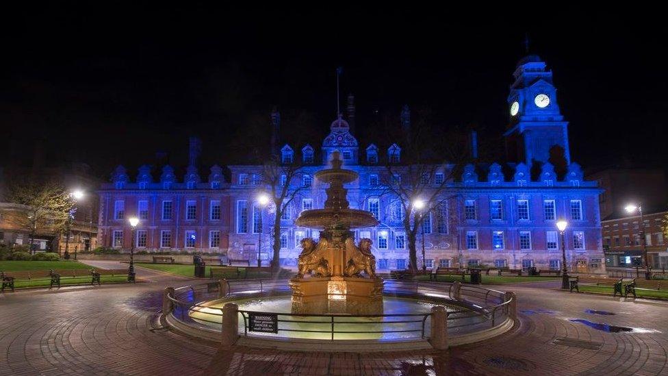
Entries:
POLYGON ((508 96, 506 149, 517 162, 533 166, 570 164, 568 122, 564 121, 552 84, 552 71, 537 55, 519 60, 508 96))

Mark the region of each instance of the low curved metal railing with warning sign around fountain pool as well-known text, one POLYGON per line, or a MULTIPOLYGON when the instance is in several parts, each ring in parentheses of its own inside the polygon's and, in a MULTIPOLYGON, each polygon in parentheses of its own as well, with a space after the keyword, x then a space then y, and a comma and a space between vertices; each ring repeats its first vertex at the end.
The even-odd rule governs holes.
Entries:
MULTIPOLYGON (((287 279, 255 279, 244 281, 222 281, 227 284, 227 297, 257 297, 276 292, 289 292, 287 279)), ((209 323, 219 325, 222 318, 222 308, 211 307, 197 301, 216 299, 220 292, 221 281, 194 286, 182 286, 166 293, 170 302, 164 314, 171 314, 175 320, 183 325, 194 326, 198 329, 214 330, 209 323), (212 293, 216 295, 212 296, 212 293), (196 312, 194 320, 191 313, 196 312)), ((497 327, 509 317, 511 299, 497 290, 490 290, 479 286, 462 285, 448 282, 426 281, 398 281, 385 280, 385 293, 398 296, 411 296, 424 299, 448 299, 448 304, 457 303, 461 308, 447 314, 447 327, 450 334, 465 334, 478 330, 497 327), (455 289, 459 290, 459 300, 449 299, 455 289), (463 306, 466 305, 466 306, 463 306)), ((244 320, 244 336, 248 334, 248 316, 251 314, 277 314, 279 316, 277 329, 279 332, 300 332, 305 335, 316 336, 327 334, 330 340, 346 337, 351 334, 378 334, 379 336, 401 336, 402 339, 419 340, 428 338, 426 322, 431 318, 431 312, 417 314, 372 314, 372 315, 340 315, 340 314, 288 314, 279 312, 259 312, 240 310, 244 320), (317 325, 318 329, 299 329, 298 325, 317 325), (410 328, 393 329, 391 325, 410 325, 410 328), (292 325, 293 327, 290 327, 292 325), (350 329, 352 325, 355 329, 350 329), (377 329, 385 325, 386 329, 377 329), (322 326, 322 329, 320 329, 322 326), (374 330, 365 330, 365 327, 374 330), (358 329, 359 328, 359 329, 358 329)))

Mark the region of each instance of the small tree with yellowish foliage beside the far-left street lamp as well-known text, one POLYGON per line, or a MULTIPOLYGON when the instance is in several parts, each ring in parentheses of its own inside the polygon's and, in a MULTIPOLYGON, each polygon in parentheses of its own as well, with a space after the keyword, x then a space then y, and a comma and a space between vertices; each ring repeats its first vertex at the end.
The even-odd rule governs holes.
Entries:
POLYGON ((75 202, 60 184, 17 182, 10 186, 7 196, 10 202, 24 207, 25 215, 16 216, 15 221, 29 232, 31 247, 38 233, 68 233, 75 214, 75 202))

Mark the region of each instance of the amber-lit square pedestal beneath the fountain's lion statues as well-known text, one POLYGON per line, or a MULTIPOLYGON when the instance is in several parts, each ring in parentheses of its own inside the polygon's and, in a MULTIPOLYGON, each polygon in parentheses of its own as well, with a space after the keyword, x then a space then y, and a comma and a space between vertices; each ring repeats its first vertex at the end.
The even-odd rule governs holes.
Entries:
POLYGON ((292 313, 383 313, 383 280, 380 278, 293 278, 290 288, 292 313))

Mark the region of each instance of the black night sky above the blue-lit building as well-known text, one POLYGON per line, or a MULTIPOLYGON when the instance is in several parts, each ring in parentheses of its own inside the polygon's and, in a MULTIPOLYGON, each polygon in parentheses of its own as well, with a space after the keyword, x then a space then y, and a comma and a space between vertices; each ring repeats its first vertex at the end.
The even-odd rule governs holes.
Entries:
POLYGON ((493 140, 525 35, 554 71, 574 161, 663 165, 668 155, 660 20, 577 8, 483 17, 167 6, 5 14, 0 166, 30 166, 38 145, 47 164, 86 162, 100 177, 125 164, 133 176, 157 151, 183 167, 191 134, 204 140, 204 164, 243 162, 249 142, 268 145, 273 105, 285 140, 317 148, 335 116, 337 66, 363 147, 382 138, 378 116, 404 103, 493 140))

